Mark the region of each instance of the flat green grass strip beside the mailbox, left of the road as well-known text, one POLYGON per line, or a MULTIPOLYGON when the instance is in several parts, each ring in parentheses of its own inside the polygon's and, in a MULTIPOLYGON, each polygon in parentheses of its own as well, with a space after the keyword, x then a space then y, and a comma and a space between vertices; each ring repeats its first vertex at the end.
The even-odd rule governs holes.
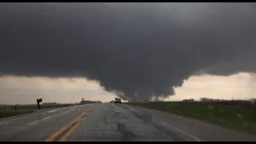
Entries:
MULTIPOLYGON (((74 104, 58 104, 58 105, 41 105, 40 110, 42 109, 51 109, 51 108, 57 108, 57 107, 66 107, 66 106, 74 106, 74 104)), ((34 110, 38 110, 37 105, 31 105, 31 106, 2 106, 0 107, 0 118, 7 118, 11 116, 17 116, 20 114, 29 114, 33 113, 34 110)))

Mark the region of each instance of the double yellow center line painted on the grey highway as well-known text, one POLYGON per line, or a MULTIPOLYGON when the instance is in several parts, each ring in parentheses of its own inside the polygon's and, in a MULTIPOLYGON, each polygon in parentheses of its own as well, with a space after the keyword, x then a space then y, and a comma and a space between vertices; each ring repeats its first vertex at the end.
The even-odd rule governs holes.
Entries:
MULTIPOLYGON (((89 110, 87 110, 85 113, 79 115, 77 118, 74 118, 71 122, 69 122, 67 125, 62 126, 61 129, 57 130, 56 132, 54 132, 54 134, 51 134, 48 138, 45 139, 45 142, 53 142, 54 138, 57 138, 59 134, 62 134, 65 130, 67 130, 72 124, 74 124, 75 122, 78 122, 80 125, 79 120, 82 118, 82 116, 86 115, 91 109, 93 109, 94 106, 90 107, 89 110)), ((74 126, 79 126, 78 124, 74 125, 74 126)), ((74 127, 73 126, 73 127, 74 127)), ((73 127, 71 129, 73 129, 73 127)))

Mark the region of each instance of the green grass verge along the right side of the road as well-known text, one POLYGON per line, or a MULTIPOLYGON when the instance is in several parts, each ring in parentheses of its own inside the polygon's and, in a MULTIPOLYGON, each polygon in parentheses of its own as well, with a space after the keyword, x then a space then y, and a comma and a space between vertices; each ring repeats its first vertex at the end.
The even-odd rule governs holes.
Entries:
POLYGON ((202 102, 127 102, 126 104, 161 110, 256 134, 256 106, 220 106, 202 102))

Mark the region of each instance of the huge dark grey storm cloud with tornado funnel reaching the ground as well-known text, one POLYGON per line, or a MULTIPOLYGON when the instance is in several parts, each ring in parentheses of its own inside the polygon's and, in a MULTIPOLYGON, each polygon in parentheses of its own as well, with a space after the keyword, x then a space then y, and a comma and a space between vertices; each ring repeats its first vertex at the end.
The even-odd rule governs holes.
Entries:
POLYGON ((86 77, 146 101, 198 71, 255 71, 254 3, 1 3, 0 18, 1 74, 86 77))

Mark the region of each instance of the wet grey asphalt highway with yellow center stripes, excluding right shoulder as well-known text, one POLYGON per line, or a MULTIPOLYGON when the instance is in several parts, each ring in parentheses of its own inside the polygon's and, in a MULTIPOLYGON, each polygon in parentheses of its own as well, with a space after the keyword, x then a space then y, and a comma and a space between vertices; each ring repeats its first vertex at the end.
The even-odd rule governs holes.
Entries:
POLYGON ((201 141, 166 125, 127 105, 87 104, 0 122, 0 141, 201 141))

